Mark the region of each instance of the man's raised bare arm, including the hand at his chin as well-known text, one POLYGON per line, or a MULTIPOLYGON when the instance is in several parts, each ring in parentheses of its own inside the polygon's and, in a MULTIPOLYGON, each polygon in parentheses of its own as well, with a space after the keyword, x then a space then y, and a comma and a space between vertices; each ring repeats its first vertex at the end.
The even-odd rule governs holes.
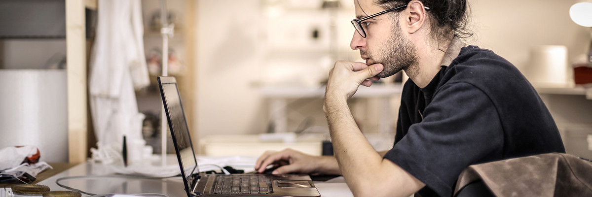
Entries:
POLYGON ((359 85, 369 86, 381 64, 337 62, 329 75, 323 109, 339 169, 355 196, 409 196, 424 183, 372 148, 353 120, 347 100, 359 85), (353 82, 353 83, 352 83, 353 82))

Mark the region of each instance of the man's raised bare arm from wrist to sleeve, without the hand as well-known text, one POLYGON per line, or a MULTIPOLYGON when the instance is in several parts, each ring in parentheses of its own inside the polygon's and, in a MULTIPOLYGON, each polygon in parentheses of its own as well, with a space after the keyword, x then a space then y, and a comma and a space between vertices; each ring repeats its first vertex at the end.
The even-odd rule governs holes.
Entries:
POLYGON ((353 120, 347 100, 326 95, 323 109, 333 140, 333 152, 354 196, 409 196, 424 186, 401 167, 382 159, 381 154, 386 151, 378 153, 368 143, 353 120))

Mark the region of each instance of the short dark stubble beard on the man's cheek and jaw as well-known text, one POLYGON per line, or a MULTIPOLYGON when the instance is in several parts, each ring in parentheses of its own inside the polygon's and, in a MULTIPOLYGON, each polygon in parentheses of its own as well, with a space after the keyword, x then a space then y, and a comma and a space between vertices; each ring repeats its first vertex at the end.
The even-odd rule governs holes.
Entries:
MULTIPOLYGON (((401 27, 394 25, 392 28, 392 36, 385 43, 384 50, 379 51, 378 56, 369 57, 375 58, 375 63, 382 63, 384 70, 378 73, 378 77, 384 78, 395 75, 401 70, 406 70, 408 73, 414 73, 419 70, 419 61, 417 60, 417 49, 413 46, 410 40, 403 36, 401 27)), ((360 51, 365 55, 366 51, 360 51)))

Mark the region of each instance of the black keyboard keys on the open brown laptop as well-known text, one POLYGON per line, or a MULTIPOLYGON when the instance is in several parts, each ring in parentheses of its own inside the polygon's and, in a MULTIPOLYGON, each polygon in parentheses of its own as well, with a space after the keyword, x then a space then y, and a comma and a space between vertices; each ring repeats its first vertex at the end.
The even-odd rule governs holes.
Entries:
POLYGON ((214 194, 266 194, 273 193, 271 182, 265 176, 216 176, 214 194))

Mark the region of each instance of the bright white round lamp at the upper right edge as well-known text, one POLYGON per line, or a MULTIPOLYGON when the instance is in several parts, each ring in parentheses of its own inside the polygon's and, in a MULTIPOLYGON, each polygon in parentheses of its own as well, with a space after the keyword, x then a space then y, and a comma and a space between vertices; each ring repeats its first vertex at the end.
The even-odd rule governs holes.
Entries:
MULTIPOLYGON (((592 0, 578 1, 570 8, 570 17, 575 24, 592 27, 592 0)), ((590 34, 592 37, 592 31, 590 34)), ((592 40, 590 43, 590 49, 588 49, 588 65, 592 67, 592 40)))

